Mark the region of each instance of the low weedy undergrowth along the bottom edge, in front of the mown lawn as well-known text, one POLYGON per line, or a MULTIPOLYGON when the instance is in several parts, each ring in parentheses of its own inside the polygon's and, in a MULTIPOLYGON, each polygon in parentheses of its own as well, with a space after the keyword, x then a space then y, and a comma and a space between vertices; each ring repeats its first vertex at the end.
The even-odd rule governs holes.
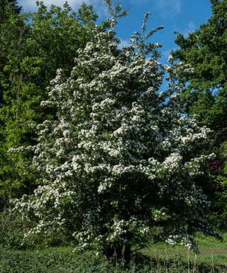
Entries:
POLYGON ((70 248, 56 247, 48 250, 0 251, 1 273, 210 273, 227 272, 226 265, 214 265, 196 262, 184 262, 180 257, 159 259, 137 253, 131 261, 131 267, 109 262, 104 257, 91 253, 75 255, 70 248))

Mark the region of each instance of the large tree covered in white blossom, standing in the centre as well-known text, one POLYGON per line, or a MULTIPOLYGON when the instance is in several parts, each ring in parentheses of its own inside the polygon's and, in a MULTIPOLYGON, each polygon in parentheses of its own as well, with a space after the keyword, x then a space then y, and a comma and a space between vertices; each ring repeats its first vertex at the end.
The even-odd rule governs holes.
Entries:
POLYGON ((159 93, 165 69, 170 76, 179 70, 160 65, 159 44, 145 44, 162 27, 137 32, 133 45, 118 49, 114 25, 78 51, 69 78, 57 70, 42 102, 57 109, 57 119, 38 125, 30 147, 43 180, 15 208, 36 221, 27 236, 55 230, 77 249, 107 257, 128 261, 131 246, 148 240, 195 249, 194 232, 215 235, 195 182, 211 158, 201 155, 209 130, 159 93))

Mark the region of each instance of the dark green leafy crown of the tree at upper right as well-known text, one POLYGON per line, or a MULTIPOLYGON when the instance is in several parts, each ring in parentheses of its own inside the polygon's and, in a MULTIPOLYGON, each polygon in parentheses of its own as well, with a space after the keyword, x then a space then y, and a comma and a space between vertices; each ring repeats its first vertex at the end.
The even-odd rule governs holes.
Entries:
POLYGON ((213 14, 207 23, 185 38, 178 34, 179 49, 173 56, 194 68, 182 91, 187 114, 196 114, 200 124, 214 129, 214 146, 226 140, 227 114, 227 1, 211 0, 213 14))

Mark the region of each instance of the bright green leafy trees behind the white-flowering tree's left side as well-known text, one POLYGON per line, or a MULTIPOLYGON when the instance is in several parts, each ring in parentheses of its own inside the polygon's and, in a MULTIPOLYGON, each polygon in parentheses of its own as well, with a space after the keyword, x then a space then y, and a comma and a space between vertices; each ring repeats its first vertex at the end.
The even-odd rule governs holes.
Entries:
POLYGON ((8 6, 0 26, 0 195, 31 193, 38 176, 31 168, 31 152, 9 154, 10 147, 35 144, 31 124, 55 119, 55 109, 40 109, 45 87, 57 68, 66 75, 78 48, 92 39, 97 16, 82 5, 78 15, 66 3, 63 9, 38 2, 38 11, 18 14, 8 6))

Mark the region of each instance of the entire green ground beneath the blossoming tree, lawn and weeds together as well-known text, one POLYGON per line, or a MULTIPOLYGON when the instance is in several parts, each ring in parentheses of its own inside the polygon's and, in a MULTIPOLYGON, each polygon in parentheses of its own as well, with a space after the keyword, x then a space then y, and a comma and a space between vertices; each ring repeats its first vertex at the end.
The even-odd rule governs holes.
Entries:
POLYGON ((75 255, 72 247, 45 250, 0 249, 0 273, 227 273, 227 235, 218 242, 199 237, 200 255, 183 247, 160 243, 132 257, 130 269, 87 252, 75 255))

